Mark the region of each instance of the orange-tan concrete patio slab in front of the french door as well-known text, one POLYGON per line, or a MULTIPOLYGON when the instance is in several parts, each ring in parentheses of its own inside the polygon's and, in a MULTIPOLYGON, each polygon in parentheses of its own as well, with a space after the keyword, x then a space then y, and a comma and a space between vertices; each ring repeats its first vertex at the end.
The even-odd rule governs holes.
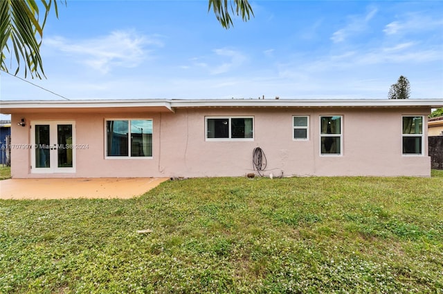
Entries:
POLYGON ((4 179, 0 199, 132 198, 169 178, 4 179))

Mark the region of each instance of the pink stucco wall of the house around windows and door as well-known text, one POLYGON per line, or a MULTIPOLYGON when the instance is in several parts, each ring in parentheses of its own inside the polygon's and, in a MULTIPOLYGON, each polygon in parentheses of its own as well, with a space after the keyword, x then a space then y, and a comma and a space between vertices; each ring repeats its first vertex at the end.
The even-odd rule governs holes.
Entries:
POLYGON ((30 144, 32 121, 73 120, 76 143, 89 148, 76 150, 75 173, 55 174, 32 173, 30 150, 13 148, 11 173, 17 178, 242 176, 253 173, 253 149, 260 147, 268 163, 265 175, 428 177, 426 137, 424 155, 404 156, 401 150, 402 115, 428 112, 428 108, 177 108, 174 113, 13 114, 13 122, 26 117, 28 124, 12 124, 13 144, 30 144), (205 141, 205 117, 219 115, 253 116, 253 141, 205 141), (308 141, 292 139, 293 115, 309 115, 308 141), (319 117, 324 115, 343 115, 341 156, 320 156, 319 117), (105 119, 153 119, 152 159, 105 159, 105 119))

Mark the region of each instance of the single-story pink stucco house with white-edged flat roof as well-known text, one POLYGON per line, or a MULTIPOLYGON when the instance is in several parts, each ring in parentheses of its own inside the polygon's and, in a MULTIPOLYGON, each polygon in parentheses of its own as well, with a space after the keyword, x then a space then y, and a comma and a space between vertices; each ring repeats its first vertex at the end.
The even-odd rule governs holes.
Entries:
POLYGON ((12 177, 431 175, 443 99, 0 101, 12 177), (255 149, 260 147, 260 149, 255 149), (266 168, 264 168, 266 166, 266 168), (260 167, 260 166, 259 166, 260 167))

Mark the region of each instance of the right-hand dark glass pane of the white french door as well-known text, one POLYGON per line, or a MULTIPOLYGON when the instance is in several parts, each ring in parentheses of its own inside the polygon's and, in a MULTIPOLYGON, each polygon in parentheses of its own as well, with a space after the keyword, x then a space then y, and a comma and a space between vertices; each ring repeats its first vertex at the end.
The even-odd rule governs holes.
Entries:
POLYGON ((57 125, 57 159, 59 168, 72 168, 72 125, 57 125))

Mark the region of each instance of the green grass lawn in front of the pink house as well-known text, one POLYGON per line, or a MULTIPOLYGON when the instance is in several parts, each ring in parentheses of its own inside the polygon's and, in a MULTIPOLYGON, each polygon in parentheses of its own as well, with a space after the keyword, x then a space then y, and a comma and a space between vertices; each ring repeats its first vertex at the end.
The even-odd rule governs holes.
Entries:
POLYGON ((443 293, 442 187, 434 170, 1 201, 0 293, 443 293))

